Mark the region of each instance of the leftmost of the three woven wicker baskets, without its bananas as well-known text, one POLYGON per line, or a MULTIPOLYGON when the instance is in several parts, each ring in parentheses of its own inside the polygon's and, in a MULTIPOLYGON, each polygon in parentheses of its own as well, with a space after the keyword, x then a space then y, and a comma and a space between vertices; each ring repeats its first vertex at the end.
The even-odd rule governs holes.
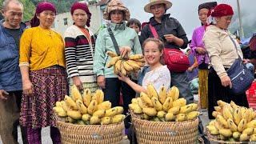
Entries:
POLYGON ((124 136, 124 123, 111 125, 75 125, 56 121, 63 144, 118 144, 124 136))

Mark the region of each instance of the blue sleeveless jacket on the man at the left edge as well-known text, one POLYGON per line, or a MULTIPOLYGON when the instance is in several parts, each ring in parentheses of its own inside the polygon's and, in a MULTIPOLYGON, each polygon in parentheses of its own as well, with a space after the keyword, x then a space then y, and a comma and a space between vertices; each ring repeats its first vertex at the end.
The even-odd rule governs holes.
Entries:
MULTIPOLYGON (((14 38, 9 34, 0 21, 0 90, 22 90, 22 76, 18 66, 19 49, 14 38)), ((20 37, 26 29, 21 23, 20 37)))

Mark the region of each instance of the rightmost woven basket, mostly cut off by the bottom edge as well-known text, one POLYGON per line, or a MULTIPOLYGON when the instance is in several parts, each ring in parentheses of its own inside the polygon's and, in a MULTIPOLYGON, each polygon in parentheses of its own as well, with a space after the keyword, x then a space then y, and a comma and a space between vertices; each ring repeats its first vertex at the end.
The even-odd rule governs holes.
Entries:
POLYGON ((218 139, 218 136, 217 135, 212 135, 210 134, 210 131, 206 128, 205 130, 205 134, 207 135, 210 143, 212 144, 217 144, 217 143, 220 143, 220 144, 246 144, 246 143, 256 143, 256 142, 227 142, 227 141, 222 141, 220 139, 218 139))

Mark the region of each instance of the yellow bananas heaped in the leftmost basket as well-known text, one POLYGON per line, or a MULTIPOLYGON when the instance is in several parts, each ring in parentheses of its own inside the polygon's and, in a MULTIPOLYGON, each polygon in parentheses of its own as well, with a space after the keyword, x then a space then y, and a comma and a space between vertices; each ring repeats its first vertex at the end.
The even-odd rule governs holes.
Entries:
POLYGON ((61 102, 56 102, 54 112, 65 118, 66 122, 78 125, 108 125, 122 122, 126 116, 122 106, 111 108, 111 102, 104 102, 102 90, 91 94, 89 89, 81 95, 76 86, 71 88, 72 98, 65 96, 61 102))

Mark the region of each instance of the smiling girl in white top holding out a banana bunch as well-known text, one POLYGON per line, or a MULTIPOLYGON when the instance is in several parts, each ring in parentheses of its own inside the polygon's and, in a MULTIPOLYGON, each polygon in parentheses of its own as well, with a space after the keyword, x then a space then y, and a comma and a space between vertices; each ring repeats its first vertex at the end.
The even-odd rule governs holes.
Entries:
POLYGON ((158 92, 161 86, 165 86, 168 90, 170 88, 170 71, 166 65, 162 65, 163 43, 157 38, 147 38, 142 47, 146 63, 150 68, 150 71, 142 79, 142 86, 131 81, 128 77, 120 75, 118 78, 126 82, 137 93, 146 93, 146 86, 149 84, 153 84, 158 92))

